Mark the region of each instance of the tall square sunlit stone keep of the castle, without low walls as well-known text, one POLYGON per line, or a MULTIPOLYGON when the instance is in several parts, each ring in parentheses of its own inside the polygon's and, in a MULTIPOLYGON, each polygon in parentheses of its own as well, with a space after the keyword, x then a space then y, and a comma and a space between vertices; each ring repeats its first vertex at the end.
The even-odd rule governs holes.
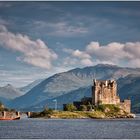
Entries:
POLYGON ((117 84, 114 80, 93 81, 92 86, 92 103, 94 105, 102 104, 119 104, 120 98, 117 95, 117 84))

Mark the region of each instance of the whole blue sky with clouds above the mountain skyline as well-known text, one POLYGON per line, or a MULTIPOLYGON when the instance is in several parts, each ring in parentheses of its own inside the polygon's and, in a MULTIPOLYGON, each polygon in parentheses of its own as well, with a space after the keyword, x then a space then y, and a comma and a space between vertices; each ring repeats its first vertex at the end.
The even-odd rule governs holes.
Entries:
POLYGON ((96 64, 140 67, 140 2, 0 2, 0 86, 96 64))

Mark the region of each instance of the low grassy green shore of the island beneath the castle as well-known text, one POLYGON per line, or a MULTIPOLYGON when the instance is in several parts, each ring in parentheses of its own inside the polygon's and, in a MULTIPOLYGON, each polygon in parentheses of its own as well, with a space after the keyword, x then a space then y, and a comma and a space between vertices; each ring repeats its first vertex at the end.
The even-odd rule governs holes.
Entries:
POLYGON ((135 115, 127 113, 116 105, 106 104, 94 107, 92 110, 86 110, 83 106, 81 110, 76 110, 73 104, 64 110, 44 109, 41 112, 32 112, 30 118, 44 118, 44 119, 116 119, 116 118, 134 118, 135 115))

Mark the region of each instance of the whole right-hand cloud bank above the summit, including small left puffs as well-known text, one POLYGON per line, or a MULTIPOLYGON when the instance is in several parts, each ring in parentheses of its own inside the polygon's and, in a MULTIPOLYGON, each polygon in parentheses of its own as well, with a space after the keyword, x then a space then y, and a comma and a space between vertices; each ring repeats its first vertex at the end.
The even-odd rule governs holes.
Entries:
POLYGON ((65 51, 71 59, 77 59, 75 65, 95 65, 98 63, 116 64, 129 67, 140 67, 140 42, 118 43, 111 42, 100 45, 99 42, 91 42, 85 50, 65 51), (79 61, 78 61, 79 60, 79 61))

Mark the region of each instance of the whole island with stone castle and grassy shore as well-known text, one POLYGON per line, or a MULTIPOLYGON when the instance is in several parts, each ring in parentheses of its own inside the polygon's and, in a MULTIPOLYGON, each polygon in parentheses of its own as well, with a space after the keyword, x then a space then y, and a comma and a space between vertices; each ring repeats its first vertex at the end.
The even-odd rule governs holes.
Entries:
POLYGON ((64 111, 44 109, 32 112, 32 118, 134 118, 131 113, 131 101, 121 101, 117 95, 117 83, 114 80, 93 80, 92 97, 84 97, 81 101, 64 104, 64 111))

